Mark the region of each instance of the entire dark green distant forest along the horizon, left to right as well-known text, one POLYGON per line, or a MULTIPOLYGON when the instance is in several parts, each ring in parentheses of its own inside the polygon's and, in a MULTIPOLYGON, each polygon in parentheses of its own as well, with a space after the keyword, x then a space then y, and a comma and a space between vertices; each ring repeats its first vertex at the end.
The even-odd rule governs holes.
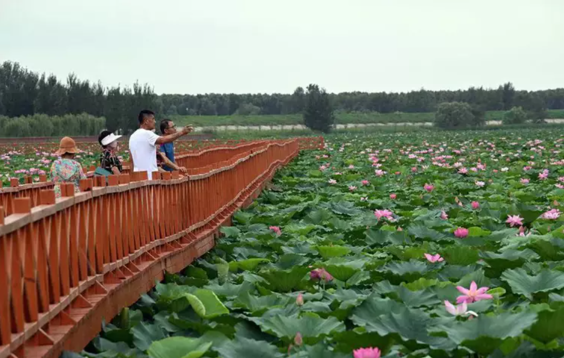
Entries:
MULTIPOLYGON (((457 91, 341 92, 330 94, 336 111, 342 112, 434 112, 443 102, 461 101, 481 111, 506 111, 514 106, 526 111, 564 109, 564 88, 524 91, 512 83, 496 89, 470 87, 457 91)), ((88 113, 105 117, 110 130, 134 129, 140 109, 150 108, 160 116, 232 114, 294 114, 305 105, 302 87, 292 94, 198 94, 156 95, 148 84, 105 87, 82 81, 71 73, 61 81, 6 61, 0 66, 0 116, 19 117, 42 113, 49 116, 88 113)))

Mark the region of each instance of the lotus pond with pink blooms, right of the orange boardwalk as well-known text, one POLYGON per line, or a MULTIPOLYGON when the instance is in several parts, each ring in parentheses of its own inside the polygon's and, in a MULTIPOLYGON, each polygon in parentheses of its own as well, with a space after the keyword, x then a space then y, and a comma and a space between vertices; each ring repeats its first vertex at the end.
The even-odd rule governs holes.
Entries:
POLYGON ((562 357, 563 134, 328 136, 81 354, 562 357))

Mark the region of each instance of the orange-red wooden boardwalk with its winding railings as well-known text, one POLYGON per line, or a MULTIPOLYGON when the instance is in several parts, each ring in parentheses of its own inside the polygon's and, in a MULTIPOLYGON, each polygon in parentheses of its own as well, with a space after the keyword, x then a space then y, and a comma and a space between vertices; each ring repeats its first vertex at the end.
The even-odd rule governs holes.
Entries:
MULTIPOLYGON (((221 149, 223 160, 147 180, 146 173, 1 189, 0 358, 57 357, 80 351, 164 272, 178 272, 214 245, 232 213, 259 195, 299 148, 323 140, 290 139, 221 149), (305 143, 303 143, 305 142, 305 143), (3 202, 8 202, 5 200, 3 202)), ((211 153, 211 152, 209 152, 211 153)), ((45 179, 45 178, 42 178, 45 179)))

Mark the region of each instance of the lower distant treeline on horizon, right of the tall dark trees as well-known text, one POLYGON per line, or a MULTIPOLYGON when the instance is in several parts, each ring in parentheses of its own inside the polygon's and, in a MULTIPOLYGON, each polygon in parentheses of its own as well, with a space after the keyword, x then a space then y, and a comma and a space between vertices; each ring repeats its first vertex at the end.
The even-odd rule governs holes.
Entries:
MULTIPOLYGON (((306 94, 298 87, 293 94, 205 94, 161 95, 161 110, 173 115, 294 114, 305 108, 306 94)), ((481 111, 526 111, 564 109, 564 88, 543 91, 518 91, 512 83, 497 89, 470 87, 468 90, 402 93, 342 92, 329 94, 333 108, 340 112, 420 113, 435 112, 440 103, 465 102, 481 111)))

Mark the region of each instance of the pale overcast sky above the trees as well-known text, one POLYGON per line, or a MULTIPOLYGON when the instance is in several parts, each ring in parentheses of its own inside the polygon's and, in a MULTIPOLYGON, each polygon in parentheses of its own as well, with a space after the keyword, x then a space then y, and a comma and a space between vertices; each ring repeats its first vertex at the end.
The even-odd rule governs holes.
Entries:
POLYGON ((0 62, 157 94, 564 87, 563 0, 0 0, 0 62))

